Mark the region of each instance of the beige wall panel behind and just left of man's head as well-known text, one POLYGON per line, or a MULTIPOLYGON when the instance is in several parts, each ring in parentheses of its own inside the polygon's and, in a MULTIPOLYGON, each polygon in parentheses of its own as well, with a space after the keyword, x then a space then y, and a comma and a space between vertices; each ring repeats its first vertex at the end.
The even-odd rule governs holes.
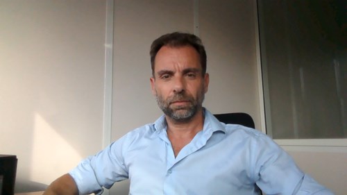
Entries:
POLYGON ((192 33, 192 1, 115 1, 112 140, 162 115, 151 94, 151 42, 164 33, 192 33))

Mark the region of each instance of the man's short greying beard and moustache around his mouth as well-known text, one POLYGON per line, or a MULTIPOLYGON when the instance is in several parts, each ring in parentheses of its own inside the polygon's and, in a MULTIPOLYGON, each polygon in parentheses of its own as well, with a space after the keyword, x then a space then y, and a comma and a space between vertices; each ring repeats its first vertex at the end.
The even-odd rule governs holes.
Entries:
POLYGON ((157 100, 160 110, 162 110, 167 117, 170 117, 177 122, 185 122, 190 121, 190 119, 196 115, 196 112, 202 108, 205 93, 203 90, 200 90, 196 96, 196 99, 194 99, 194 97, 188 96, 185 94, 185 92, 181 92, 169 97, 167 100, 164 100, 164 98, 157 93, 155 99, 157 100), (180 106, 171 105, 171 103, 174 101, 182 100, 189 101, 189 104, 180 106))

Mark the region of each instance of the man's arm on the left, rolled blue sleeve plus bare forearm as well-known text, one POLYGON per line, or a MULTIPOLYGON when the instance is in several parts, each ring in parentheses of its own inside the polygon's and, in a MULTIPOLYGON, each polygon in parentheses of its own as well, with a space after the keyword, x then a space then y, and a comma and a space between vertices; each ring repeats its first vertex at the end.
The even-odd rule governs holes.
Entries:
POLYGON ((96 155, 85 158, 76 168, 53 181, 44 195, 102 194, 103 187, 109 189, 116 181, 128 178, 121 155, 122 143, 114 142, 96 155))

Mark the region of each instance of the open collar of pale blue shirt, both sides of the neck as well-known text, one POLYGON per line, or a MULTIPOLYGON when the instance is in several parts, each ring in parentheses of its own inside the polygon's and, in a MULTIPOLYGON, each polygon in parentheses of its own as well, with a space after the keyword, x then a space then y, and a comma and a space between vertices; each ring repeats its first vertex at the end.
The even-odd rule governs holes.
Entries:
MULTIPOLYGON (((203 111, 205 113, 203 131, 211 133, 222 131, 223 133, 226 133, 224 126, 216 117, 214 117, 214 115, 212 115, 210 111, 208 111, 206 108, 203 108, 203 111)), ((158 133, 162 130, 167 130, 167 121, 165 119, 165 115, 162 115, 153 123, 153 128, 154 131, 157 131, 158 133)))

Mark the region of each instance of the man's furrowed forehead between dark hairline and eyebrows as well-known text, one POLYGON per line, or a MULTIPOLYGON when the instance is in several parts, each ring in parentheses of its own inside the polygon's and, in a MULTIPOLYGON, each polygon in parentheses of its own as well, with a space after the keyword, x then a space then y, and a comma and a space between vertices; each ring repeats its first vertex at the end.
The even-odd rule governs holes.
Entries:
POLYGON ((193 46, 162 46, 155 56, 155 70, 174 67, 194 67, 201 69, 200 58, 193 46))

